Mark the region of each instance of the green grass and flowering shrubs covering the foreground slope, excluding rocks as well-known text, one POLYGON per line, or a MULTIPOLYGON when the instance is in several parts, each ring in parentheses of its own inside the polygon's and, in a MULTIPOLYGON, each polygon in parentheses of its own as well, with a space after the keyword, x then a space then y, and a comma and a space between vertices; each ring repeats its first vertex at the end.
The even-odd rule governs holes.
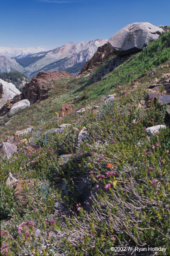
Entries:
MULTIPOLYGON (((168 124, 169 119, 164 119, 165 109, 158 105, 148 111, 138 107, 138 102, 145 99, 147 85, 154 78, 160 78, 162 73, 169 73, 169 44, 170 32, 98 83, 91 84, 89 79, 82 86, 81 79, 61 81, 62 92, 54 85, 48 99, 17 114, 7 127, 1 128, 1 140, 4 140, 16 129, 34 125, 37 131, 35 142, 41 146, 34 155, 24 155, 21 150, 12 160, 2 161, 1 213, 7 236, 2 236, 1 243, 8 244, 9 255, 53 256, 59 253, 81 256, 85 252, 86 255, 114 255, 110 247, 116 245, 165 246, 166 254, 158 255, 170 254, 170 128, 153 136, 151 141, 145 133, 145 128, 168 124), (151 76, 140 79, 138 87, 134 88, 130 83, 136 76, 153 69, 155 72, 151 76), (133 71, 136 73, 132 74, 133 71), (115 86, 110 88, 113 83, 115 86), (78 93, 70 94, 78 88, 81 88, 78 93), (103 96, 108 93, 116 93, 118 99, 105 105, 103 96), (61 97, 55 99, 59 94, 61 97), (75 100, 77 95, 79 102, 75 100), (63 103, 75 103, 76 108, 98 103, 101 108, 99 112, 88 110, 80 116, 66 116, 58 121, 55 112, 59 112, 63 103), (25 123, 27 119, 29 121, 25 123), (136 119, 135 125, 133 119, 136 119), (62 136, 43 137, 40 134, 61 123, 72 123, 62 136), (78 134, 75 128, 80 131, 83 126, 89 131, 88 142, 81 146, 68 165, 60 166, 59 155, 73 153, 78 134), (31 160, 37 161, 35 168, 26 166, 31 160), (108 168, 108 163, 113 167, 108 168), (18 207, 14 202, 14 191, 6 187, 9 171, 19 179, 37 179, 34 188, 28 189, 29 204, 26 207, 18 207), (108 176, 108 171, 115 174, 108 176), (80 201, 76 180, 89 173, 92 195, 97 192, 98 196, 93 198, 93 206, 87 214, 82 207, 80 211, 76 209, 76 204, 84 203, 80 201), (43 182, 44 179, 47 182, 43 182), (58 184, 63 179, 68 180, 69 189, 69 195, 63 198, 67 209, 65 222, 52 224, 48 219, 54 213, 55 202, 61 200, 58 184), (158 181, 153 182, 154 179, 158 181), (105 188, 108 184, 110 189, 105 188), (6 223, 10 218, 11 222, 6 223), (22 221, 35 222, 35 228, 42 231, 38 240, 31 225, 29 235, 23 230, 21 236, 12 239, 22 221)), ((1 122, 7 122, 7 118, 1 122)), ((23 137, 28 139, 31 135, 23 137)))

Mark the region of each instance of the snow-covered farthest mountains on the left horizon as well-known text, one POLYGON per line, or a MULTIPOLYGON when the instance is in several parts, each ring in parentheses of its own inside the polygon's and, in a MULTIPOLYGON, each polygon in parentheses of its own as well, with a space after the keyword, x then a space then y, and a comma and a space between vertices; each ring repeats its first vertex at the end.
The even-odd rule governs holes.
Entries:
POLYGON ((12 58, 23 58, 30 54, 34 54, 37 52, 46 52, 46 51, 47 51, 47 49, 43 49, 41 47, 16 48, 16 47, 1 47, 0 46, 0 55, 12 57, 12 58))

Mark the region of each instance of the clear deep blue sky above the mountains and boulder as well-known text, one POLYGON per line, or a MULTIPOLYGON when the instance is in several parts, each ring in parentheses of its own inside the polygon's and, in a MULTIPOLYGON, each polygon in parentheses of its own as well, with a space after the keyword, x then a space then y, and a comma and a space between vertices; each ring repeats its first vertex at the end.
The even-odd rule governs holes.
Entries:
POLYGON ((0 46, 53 49, 133 22, 170 25, 170 0, 1 0, 0 46))

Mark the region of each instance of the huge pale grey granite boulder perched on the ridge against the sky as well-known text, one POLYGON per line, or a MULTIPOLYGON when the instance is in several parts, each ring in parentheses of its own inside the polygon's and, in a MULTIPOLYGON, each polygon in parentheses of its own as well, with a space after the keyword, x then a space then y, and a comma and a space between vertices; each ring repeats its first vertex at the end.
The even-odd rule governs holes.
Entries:
POLYGON ((110 49, 116 55, 128 55, 138 52, 150 42, 155 41, 164 32, 149 22, 128 24, 108 40, 110 49))

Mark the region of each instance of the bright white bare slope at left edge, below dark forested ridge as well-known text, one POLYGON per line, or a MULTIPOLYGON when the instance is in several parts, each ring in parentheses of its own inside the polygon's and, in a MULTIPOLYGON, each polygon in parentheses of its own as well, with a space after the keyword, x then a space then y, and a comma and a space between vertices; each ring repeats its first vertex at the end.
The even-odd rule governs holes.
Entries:
POLYGON ((3 87, 3 97, 0 99, 0 108, 6 104, 8 99, 13 99, 15 95, 20 94, 21 92, 15 87, 14 84, 8 83, 0 79, 0 86, 3 87))

